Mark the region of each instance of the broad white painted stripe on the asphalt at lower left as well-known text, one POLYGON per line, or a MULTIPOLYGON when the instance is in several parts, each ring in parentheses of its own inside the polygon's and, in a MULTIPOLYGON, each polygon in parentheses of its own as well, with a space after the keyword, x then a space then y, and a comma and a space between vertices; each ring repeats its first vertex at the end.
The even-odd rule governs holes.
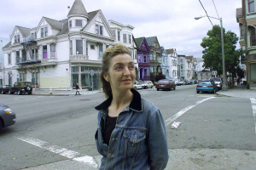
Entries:
POLYGON ((67 150, 66 148, 61 148, 61 146, 57 145, 51 145, 43 140, 35 139, 32 137, 19 136, 15 137, 15 139, 19 139, 28 144, 38 146, 39 148, 42 148, 44 150, 49 150, 55 154, 59 154, 60 156, 65 156, 69 159, 72 159, 73 161, 83 162, 90 167, 99 167, 93 156, 86 156, 84 154, 80 154, 79 152, 67 150))

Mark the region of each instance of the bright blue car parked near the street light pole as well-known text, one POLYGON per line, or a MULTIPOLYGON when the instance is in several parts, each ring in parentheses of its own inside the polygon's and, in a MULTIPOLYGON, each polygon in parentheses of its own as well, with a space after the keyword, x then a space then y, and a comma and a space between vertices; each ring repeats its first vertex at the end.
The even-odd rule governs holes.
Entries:
POLYGON ((218 90, 217 85, 212 80, 202 80, 196 86, 196 93, 199 94, 200 92, 212 92, 215 94, 218 90))

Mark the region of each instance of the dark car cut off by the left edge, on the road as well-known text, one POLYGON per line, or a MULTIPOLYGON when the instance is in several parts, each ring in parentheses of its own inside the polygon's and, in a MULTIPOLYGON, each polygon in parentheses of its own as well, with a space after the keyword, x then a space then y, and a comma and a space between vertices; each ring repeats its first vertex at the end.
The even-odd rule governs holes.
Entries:
POLYGON ((15 124, 16 115, 7 105, 0 104, 0 130, 15 124))

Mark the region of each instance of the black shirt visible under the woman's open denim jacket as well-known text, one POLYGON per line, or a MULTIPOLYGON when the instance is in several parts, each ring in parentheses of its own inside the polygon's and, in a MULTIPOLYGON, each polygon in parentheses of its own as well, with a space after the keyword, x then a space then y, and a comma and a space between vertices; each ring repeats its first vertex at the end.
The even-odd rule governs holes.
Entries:
POLYGON ((104 130, 103 136, 102 136, 105 144, 109 144, 111 133, 113 132, 113 129, 115 127, 116 120, 117 120, 117 116, 116 117, 111 117, 111 116, 106 117, 106 126, 105 126, 105 130, 104 130))

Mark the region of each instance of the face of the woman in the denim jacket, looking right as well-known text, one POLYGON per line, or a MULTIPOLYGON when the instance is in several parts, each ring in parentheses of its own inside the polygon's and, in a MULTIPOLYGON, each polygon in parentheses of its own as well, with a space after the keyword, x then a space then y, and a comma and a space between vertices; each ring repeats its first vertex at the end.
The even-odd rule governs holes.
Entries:
POLYGON ((131 56, 118 54, 110 59, 108 75, 104 76, 112 90, 124 91, 131 89, 135 81, 135 68, 131 56))

